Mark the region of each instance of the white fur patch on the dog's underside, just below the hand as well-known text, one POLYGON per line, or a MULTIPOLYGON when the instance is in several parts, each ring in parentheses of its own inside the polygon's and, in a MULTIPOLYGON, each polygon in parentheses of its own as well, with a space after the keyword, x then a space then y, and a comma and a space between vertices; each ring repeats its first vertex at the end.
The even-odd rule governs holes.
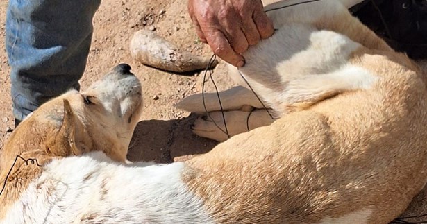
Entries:
MULTIPOLYGON (((374 78, 368 71, 348 65, 351 54, 360 47, 340 33, 283 24, 272 37, 244 53, 246 66, 240 72, 269 107, 283 114, 282 103, 318 101, 370 86, 374 78)), ((238 73, 231 76, 246 86, 238 73)))

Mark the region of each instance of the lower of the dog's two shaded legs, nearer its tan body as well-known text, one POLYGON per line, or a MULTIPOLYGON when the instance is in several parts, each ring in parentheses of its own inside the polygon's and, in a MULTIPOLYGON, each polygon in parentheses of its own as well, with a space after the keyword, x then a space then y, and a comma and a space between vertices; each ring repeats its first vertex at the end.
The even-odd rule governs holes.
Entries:
MULTIPOLYGON (((224 112, 224 118, 230 137, 261 126, 268 126, 274 121, 265 109, 254 109, 249 112, 242 110, 226 111, 224 112)), ((192 130, 194 134, 201 137, 225 141, 228 139, 228 135, 226 134, 224 118, 220 111, 210 112, 203 117, 199 117, 194 122, 192 130)))

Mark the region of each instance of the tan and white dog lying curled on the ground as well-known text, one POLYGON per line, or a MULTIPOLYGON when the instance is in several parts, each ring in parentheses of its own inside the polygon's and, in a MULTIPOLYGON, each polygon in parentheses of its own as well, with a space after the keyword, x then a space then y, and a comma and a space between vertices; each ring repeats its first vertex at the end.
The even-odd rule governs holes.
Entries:
MULTIPOLYGON (((300 1, 284 1, 280 8, 300 1)), ((269 9, 267 8, 267 9, 269 9)), ((276 112, 187 162, 126 164, 140 115, 121 65, 42 105, 0 157, 1 223, 387 223, 427 181, 427 77, 322 0, 269 12, 240 72, 276 112)))

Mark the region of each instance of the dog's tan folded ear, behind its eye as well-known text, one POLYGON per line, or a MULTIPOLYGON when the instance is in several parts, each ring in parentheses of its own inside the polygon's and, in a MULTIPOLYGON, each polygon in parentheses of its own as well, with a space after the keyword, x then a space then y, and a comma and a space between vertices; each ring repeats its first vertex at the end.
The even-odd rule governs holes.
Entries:
POLYGON ((67 99, 64 99, 64 119, 62 126, 49 137, 45 144, 45 150, 48 155, 69 156, 81 155, 76 143, 76 133, 79 128, 83 128, 81 121, 74 114, 71 105, 67 99))

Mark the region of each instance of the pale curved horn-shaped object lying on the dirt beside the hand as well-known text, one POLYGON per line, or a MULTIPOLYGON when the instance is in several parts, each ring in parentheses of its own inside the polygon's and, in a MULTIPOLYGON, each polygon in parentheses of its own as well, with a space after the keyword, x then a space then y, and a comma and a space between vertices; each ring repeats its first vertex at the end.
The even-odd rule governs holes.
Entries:
MULTIPOLYGON (((165 71, 187 72, 206 69, 210 58, 201 58, 183 51, 152 31, 135 32, 131 44, 132 57, 142 64, 165 71)), ((217 61, 212 63, 212 67, 217 61)))

